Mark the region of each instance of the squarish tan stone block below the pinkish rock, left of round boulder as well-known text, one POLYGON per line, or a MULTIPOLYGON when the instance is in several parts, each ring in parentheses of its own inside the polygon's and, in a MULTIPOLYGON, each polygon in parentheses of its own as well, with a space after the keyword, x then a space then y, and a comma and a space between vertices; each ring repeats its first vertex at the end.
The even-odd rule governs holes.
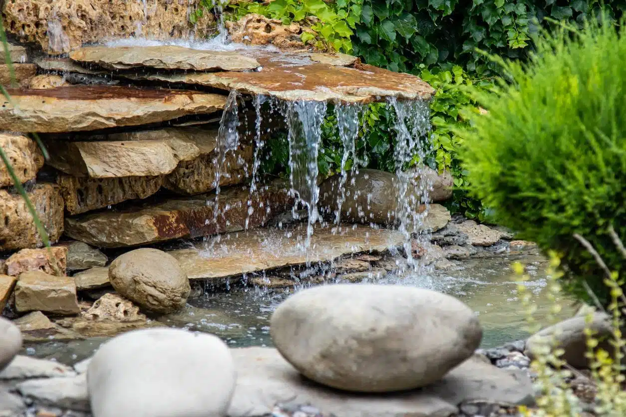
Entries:
POLYGON ((24 272, 15 286, 15 308, 21 313, 39 310, 54 314, 78 314, 80 308, 74 279, 41 271, 24 272))

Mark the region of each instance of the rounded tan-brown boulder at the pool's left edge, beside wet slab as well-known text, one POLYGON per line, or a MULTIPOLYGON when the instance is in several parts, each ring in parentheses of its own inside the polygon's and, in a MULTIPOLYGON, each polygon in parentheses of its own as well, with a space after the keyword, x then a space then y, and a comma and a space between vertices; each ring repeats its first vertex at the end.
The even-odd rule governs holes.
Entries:
POLYGON ((109 279, 121 296, 155 313, 183 308, 191 291, 178 261, 158 249, 135 249, 119 256, 109 266, 109 279))

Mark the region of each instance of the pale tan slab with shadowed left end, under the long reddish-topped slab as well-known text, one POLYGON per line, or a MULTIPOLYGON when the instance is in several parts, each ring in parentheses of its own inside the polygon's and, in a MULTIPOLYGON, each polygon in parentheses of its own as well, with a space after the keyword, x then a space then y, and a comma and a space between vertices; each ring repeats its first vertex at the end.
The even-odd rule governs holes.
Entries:
POLYGON ((162 141, 56 142, 48 149, 48 164, 78 177, 159 176, 178 164, 172 148, 162 141))

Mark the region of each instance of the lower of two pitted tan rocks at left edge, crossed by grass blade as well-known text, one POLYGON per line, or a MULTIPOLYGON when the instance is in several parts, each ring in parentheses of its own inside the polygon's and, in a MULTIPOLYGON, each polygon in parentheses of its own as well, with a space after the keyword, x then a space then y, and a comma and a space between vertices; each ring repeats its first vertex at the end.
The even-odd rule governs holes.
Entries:
MULTIPOLYGON (((39 183, 28 191, 28 197, 48 232, 51 242, 63 233, 63 199, 52 184, 39 183)), ((19 194, 0 189, 0 250, 9 251, 43 246, 33 217, 19 194)))

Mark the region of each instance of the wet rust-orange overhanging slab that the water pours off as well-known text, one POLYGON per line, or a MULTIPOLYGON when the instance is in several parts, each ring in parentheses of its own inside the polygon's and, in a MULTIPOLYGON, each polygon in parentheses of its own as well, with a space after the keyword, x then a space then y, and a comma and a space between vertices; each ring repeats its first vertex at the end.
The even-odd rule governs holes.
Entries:
POLYGON ((184 74, 138 74, 131 71, 121 75, 130 79, 237 90, 287 101, 371 103, 385 97, 428 100, 434 94, 434 89, 416 76, 366 64, 359 64, 358 68, 335 66, 313 61, 307 53, 250 51, 250 56, 259 61, 262 71, 184 74))

